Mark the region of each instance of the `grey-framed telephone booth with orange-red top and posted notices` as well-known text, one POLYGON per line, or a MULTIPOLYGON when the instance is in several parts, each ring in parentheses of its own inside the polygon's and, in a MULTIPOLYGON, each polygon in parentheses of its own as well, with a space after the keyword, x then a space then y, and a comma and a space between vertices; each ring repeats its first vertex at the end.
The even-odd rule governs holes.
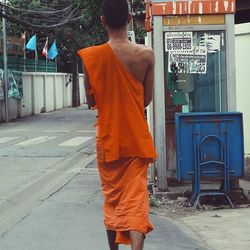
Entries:
POLYGON ((175 114, 236 109, 235 9, 235 0, 147 1, 156 57, 152 113, 159 190, 176 178, 175 114))

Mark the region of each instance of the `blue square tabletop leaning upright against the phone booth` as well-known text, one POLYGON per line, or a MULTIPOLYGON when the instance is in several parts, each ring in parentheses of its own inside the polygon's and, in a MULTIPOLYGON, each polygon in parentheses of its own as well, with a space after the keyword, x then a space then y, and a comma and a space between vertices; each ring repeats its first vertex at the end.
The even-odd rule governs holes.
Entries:
MULTIPOLYGON (((176 158, 177 179, 193 181, 196 156, 195 143, 197 134, 200 138, 215 135, 221 138, 227 150, 227 165, 230 178, 240 178, 244 174, 244 143, 242 113, 177 113, 176 126, 176 158)), ((207 145, 208 160, 213 161, 218 148, 207 145)), ((213 166, 211 166, 213 168, 213 166)), ((216 177, 216 174, 205 174, 205 177, 216 177)))

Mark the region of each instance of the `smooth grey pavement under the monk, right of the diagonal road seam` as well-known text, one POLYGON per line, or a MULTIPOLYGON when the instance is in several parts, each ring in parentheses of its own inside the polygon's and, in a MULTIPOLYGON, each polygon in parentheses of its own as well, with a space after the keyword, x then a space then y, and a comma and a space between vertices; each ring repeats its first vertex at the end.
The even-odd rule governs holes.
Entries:
MULTIPOLYGON (((95 163, 70 169, 74 178, 47 198, 36 198, 27 211, 0 237, 1 250, 108 250, 102 218, 102 193, 95 163)), ((58 173, 59 174, 59 173, 58 173)), ((46 189, 46 186, 42 188, 46 189)), ((182 223, 152 215, 155 230, 145 250, 207 250, 182 223)), ((121 246, 120 250, 129 250, 121 246)))

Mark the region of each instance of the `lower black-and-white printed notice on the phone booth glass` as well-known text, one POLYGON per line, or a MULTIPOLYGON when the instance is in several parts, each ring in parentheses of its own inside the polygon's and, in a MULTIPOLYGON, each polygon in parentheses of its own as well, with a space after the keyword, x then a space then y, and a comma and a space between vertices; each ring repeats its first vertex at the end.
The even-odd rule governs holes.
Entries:
POLYGON ((192 51, 173 51, 169 53, 168 71, 171 73, 206 74, 207 48, 194 47, 192 51))

